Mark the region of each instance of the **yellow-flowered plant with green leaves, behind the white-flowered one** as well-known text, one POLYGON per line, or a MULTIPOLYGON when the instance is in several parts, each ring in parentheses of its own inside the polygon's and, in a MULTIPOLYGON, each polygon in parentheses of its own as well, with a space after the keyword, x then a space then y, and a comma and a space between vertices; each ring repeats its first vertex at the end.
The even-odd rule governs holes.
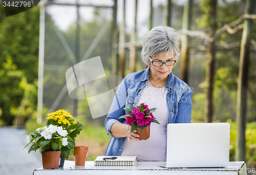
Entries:
POLYGON ((73 155, 75 147, 75 138, 80 134, 83 125, 73 119, 72 115, 64 110, 58 110, 54 113, 47 114, 47 124, 55 125, 57 127, 62 127, 67 130, 68 134, 66 136, 68 144, 66 146, 61 146, 60 156, 66 159, 69 155, 73 155))

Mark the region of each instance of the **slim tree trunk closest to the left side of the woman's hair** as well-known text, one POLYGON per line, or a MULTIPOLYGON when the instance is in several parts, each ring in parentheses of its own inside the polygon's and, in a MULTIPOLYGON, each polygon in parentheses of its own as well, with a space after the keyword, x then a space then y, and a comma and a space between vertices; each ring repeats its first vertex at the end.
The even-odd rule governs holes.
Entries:
MULTIPOLYGON (((136 41, 136 22, 137 22, 137 6, 138 0, 135 0, 134 29, 131 33, 131 42, 136 41)), ((135 72, 136 65, 136 47, 130 48, 130 73, 135 72)))

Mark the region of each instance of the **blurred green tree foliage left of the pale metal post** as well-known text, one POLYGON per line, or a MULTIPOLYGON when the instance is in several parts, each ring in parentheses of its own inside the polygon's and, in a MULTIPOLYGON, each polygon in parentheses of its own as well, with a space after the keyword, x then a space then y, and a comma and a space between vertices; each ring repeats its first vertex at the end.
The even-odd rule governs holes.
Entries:
MULTIPOLYGON (((35 110, 38 71, 39 8, 6 17, 0 8, 0 124, 12 125, 23 100, 35 110), (28 92, 30 89, 30 93, 28 92), (27 96, 27 97, 25 97, 27 96)), ((26 111, 26 108, 24 110, 26 111)), ((20 112, 20 111, 19 111, 20 112)))

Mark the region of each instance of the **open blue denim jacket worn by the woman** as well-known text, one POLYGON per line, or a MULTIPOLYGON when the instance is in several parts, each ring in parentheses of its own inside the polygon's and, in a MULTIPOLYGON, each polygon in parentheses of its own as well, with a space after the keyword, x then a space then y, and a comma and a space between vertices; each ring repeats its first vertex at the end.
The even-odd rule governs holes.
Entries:
MULTIPOLYGON (((110 130, 114 123, 121 122, 126 124, 124 119, 119 117, 127 114, 123 108, 137 106, 140 99, 141 90, 148 83, 147 69, 127 75, 119 84, 115 93, 108 116, 105 118, 105 128, 108 135, 112 136, 110 130)), ((169 110, 168 123, 190 123, 192 109, 192 91, 189 86, 173 75, 171 72, 165 84, 167 89, 166 101, 169 110)), ((115 138, 112 136, 104 156, 120 156, 126 137, 115 138)))

